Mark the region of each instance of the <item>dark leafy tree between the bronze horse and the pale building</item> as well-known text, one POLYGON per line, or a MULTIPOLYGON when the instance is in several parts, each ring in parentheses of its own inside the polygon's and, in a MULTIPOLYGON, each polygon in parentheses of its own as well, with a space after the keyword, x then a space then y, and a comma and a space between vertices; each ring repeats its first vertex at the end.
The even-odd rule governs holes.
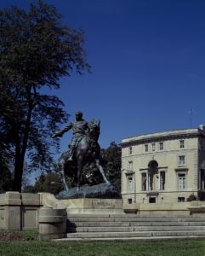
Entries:
POLYGON ((108 148, 101 149, 105 175, 118 192, 121 192, 121 152, 121 147, 115 142, 111 142, 108 148))

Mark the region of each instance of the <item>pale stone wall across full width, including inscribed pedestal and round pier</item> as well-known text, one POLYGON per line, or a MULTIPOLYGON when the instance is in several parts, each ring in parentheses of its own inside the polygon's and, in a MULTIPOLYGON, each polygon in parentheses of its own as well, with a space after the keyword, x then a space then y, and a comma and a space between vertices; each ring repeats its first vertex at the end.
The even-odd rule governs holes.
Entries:
POLYGON ((202 215, 205 201, 161 204, 122 204, 120 199, 57 200, 49 193, 6 192, 0 194, 0 229, 39 229, 42 238, 65 237, 71 214, 202 215))

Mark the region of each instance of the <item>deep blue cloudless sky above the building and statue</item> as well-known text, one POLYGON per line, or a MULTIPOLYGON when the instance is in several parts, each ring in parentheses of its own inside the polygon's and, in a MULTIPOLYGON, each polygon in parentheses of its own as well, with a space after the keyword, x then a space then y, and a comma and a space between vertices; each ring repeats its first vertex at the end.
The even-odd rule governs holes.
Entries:
MULTIPOLYGON (((27 0, 1 0, 0 8, 27 0)), ((32 1, 35 2, 35 1, 32 1)), ((60 80, 71 119, 100 119, 100 146, 205 124, 204 0, 47 0, 85 32, 92 73, 60 80)), ((60 127, 61 128, 61 127, 60 127)), ((71 139, 61 139, 62 151, 71 139)))

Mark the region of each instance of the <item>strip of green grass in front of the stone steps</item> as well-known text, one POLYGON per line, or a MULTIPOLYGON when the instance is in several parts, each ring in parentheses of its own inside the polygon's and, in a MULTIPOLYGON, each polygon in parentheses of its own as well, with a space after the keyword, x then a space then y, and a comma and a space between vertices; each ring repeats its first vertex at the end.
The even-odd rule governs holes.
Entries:
POLYGON ((205 241, 0 242, 6 256, 205 256, 205 241))

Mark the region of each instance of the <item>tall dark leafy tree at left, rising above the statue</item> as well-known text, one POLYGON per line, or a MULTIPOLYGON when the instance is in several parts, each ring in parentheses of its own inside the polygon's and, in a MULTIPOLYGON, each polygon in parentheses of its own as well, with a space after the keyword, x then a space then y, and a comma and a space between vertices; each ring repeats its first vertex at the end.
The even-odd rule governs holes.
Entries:
POLYGON ((43 94, 59 79, 88 71, 83 32, 62 25, 54 6, 42 0, 30 10, 0 11, 0 157, 14 159, 14 190, 21 191, 25 157, 33 170, 51 162, 50 135, 65 122, 63 102, 43 94))

